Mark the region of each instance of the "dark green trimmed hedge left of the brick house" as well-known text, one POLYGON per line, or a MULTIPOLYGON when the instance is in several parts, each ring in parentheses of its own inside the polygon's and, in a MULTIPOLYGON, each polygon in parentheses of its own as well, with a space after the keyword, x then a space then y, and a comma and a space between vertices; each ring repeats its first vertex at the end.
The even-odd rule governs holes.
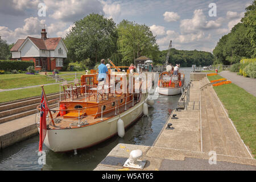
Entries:
POLYGON ((26 71, 30 66, 35 66, 33 61, 0 60, 0 70, 12 71, 14 69, 26 71))

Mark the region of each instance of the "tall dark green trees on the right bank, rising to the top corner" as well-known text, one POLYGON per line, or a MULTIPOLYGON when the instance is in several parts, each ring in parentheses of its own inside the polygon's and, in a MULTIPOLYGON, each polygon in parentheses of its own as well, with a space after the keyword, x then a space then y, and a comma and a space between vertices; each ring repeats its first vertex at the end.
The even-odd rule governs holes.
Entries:
POLYGON ((244 58, 256 57, 256 1, 246 7, 242 23, 222 36, 213 50, 214 63, 230 65, 244 58))

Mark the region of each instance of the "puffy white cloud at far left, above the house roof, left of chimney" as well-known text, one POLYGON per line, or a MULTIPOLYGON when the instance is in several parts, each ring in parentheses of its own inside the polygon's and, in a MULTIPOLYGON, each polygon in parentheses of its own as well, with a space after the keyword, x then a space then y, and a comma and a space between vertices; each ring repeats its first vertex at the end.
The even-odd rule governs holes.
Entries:
POLYGON ((27 36, 34 36, 40 38, 42 29, 41 24, 45 20, 39 20, 37 17, 30 17, 24 19, 25 24, 23 27, 16 28, 14 31, 7 27, 0 27, 0 36, 2 39, 7 40, 9 43, 14 43, 18 39, 24 39, 27 36))

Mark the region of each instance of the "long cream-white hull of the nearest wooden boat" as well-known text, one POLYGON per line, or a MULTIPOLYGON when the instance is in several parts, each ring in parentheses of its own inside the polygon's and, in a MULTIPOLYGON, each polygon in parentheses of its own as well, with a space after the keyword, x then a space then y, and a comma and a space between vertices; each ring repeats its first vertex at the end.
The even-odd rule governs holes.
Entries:
MULTIPOLYGON (((138 104, 120 114, 125 127, 142 116, 143 103, 144 94, 138 104)), ((71 151, 93 146, 117 134, 118 119, 119 115, 106 121, 77 129, 47 130, 44 144, 55 152, 71 151)))

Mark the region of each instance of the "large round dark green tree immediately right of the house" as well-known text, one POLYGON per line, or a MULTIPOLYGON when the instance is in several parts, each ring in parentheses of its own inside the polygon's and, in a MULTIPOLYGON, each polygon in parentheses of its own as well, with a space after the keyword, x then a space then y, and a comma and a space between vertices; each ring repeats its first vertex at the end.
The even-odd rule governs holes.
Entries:
POLYGON ((64 42, 68 48, 68 59, 81 61, 90 59, 97 64, 102 58, 112 55, 116 49, 117 32, 113 19, 90 14, 75 22, 64 42))

